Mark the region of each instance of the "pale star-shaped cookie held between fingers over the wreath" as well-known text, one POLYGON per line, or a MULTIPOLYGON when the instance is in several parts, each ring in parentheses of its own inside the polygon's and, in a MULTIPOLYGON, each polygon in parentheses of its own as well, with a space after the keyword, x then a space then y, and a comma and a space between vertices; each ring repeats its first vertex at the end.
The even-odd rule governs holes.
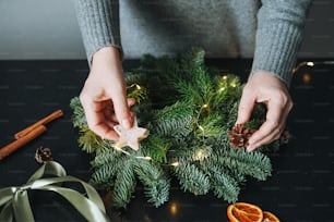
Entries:
POLYGON ((114 128, 119 134, 119 140, 115 145, 116 149, 121 149, 122 147, 129 146, 134 150, 139 150, 140 140, 146 138, 150 134, 147 128, 138 126, 135 116, 133 126, 131 128, 122 128, 121 125, 116 125, 114 128))

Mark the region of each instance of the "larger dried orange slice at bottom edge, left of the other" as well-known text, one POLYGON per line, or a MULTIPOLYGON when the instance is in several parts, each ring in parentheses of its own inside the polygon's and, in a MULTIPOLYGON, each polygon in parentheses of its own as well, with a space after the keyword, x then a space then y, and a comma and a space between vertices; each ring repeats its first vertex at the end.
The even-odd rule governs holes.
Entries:
POLYGON ((235 202, 227 208, 227 218, 230 222, 262 222, 261 208, 248 202, 235 202))

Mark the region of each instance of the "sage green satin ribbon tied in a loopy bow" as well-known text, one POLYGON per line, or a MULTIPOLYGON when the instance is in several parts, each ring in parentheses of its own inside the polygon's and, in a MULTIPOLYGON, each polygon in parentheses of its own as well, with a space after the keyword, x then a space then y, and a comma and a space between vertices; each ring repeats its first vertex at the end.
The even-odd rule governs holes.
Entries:
POLYGON ((63 166, 55 161, 44 163, 23 186, 0 189, 0 208, 3 206, 0 212, 0 221, 11 222, 13 217, 17 222, 35 221, 27 195, 29 189, 55 192, 61 195, 87 221, 109 221, 105 206, 94 187, 76 177, 67 175, 63 166), (43 178, 44 175, 56 177, 43 178), (63 182, 80 183, 87 197, 74 189, 61 187, 63 182))

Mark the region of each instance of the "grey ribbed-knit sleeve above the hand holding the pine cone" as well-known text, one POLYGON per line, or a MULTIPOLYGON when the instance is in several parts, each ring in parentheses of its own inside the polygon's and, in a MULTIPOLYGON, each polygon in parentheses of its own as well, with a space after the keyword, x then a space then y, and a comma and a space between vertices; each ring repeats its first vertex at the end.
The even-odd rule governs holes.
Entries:
POLYGON ((290 85, 311 0, 262 0, 252 72, 270 72, 290 85))

